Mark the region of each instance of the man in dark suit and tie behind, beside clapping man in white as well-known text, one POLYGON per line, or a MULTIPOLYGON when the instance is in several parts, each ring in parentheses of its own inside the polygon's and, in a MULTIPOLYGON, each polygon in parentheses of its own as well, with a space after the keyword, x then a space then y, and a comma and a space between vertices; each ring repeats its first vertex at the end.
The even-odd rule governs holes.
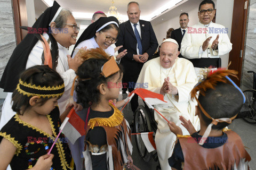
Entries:
MULTIPOLYGON (((179 51, 180 51, 180 44, 181 44, 182 38, 188 30, 188 22, 189 22, 188 13, 186 13, 186 12, 181 13, 180 14, 180 28, 175 29, 171 33, 171 38, 175 39, 177 41, 177 43, 179 44, 179 49, 178 49, 179 51)), ((183 58, 183 56, 181 54, 179 55, 179 57, 183 58)))

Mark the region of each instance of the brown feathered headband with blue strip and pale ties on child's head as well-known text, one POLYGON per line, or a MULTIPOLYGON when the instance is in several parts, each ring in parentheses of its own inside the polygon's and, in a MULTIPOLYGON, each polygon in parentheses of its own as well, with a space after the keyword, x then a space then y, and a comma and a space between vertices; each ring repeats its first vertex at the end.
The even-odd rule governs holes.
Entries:
POLYGON ((236 84, 228 77, 228 75, 233 75, 234 77, 237 77, 236 74, 237 74, 237 72, 234 70, 218 69, 216 71, 210 71, 210 73, 205 76, 205 79, 203 79, 203 81, 197 83, 196 86, 194 87, 194 89, 191 91, 191 99, 196 99, 198 106, 201 109, 201 111, 203 112, 203 114, 212 120, 212 123, 209 124, 207 129, 205 130, 202 140, 199 142, 199 145, 203 145, 204 142, 206 141, 203 139, 206 139, 207 137, 209 137, 209 134, 212 130, 213 125, 217 125, 219 122, 227 122, 230 124, 232 122, 232 120, 234 120, 234 118, 236 118, 237 114, 230 118, 216 118, 216 119, 212 118, 205 111, 203 106, 199 103, 199 101, 196 97, 197 91, 199 91, 199 94, 204 96, 205 95, 204 92, 206 91, 206 89, 214 89, 214 86, 216 86, 217 82, 227 83, 227 80, 228 80, 229 82, 231 82, 233 84, 233 86, 236 89, 239 90, 239 92, 241 92, 241 94, 243 95, 243 98, 244 98, 244 103, 245 103, 246 98, 245 98, 242 90, 238 86, 236 86, 236 84))

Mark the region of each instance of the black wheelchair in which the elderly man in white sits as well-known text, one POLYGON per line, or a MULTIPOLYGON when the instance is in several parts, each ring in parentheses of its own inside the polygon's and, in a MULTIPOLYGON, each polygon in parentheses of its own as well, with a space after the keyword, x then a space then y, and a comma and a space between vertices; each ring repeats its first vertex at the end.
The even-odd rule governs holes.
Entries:
MULTIPOLYGON (((134 132, 135 133, 154 132, 153 138, 155 139, 157 123, 154 118, 154 109, 150 109, 145 103, 144 105, 145 106, 139 105, 134 113, 134 120, 133 120, 134 132)), ((139 155, 145 162, 149 162, 151 157, 153 157, 155 162, 158 161, 156 150, 149 153, 142 141, 140 134, 135 134, 135 142, 136 142, 139 155)))

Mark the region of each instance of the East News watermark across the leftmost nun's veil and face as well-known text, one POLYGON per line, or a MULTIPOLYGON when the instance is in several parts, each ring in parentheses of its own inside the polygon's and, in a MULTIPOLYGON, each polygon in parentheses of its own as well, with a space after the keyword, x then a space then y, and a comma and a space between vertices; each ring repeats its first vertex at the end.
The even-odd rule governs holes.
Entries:
POLYGON ((28 27, 28 33, 68 33, 68 28, 32 28, 28 27))

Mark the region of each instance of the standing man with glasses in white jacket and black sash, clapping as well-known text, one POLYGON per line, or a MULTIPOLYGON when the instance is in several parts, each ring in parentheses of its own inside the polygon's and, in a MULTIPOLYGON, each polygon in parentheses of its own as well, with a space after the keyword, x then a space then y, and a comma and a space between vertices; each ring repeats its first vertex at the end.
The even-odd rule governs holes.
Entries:
POLYGON ((194 64, 197 75, 209 66, 220 67, 219 57, 232 49, 228 38, 231 30, 212 22, 215 12, 214 2, 203 1, 199 5, 199 22, 188 28, 181 41, 180 53, 194 64))

